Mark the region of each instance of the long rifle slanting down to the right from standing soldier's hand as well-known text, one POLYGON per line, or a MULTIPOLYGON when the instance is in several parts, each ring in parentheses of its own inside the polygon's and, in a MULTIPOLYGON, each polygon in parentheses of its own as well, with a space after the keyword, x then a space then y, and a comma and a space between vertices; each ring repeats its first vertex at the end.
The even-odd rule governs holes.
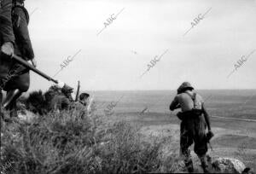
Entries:
POLYGON ((60 86, 61 88, 65 87, 66 89, 73 89, 72 87, 68 86, 67 84, 64 84, 61 81, 58 81, 54 78, 49 77, 47 74, 39 71, 37 68, 33 67, 30 63, 28 63, 27 61, 24 61, 22 58, 20 58, 18 55, 14 55, 13 59, 15 59, 15 61, 18 61, 18 63, 20 63, 21 65, 23 65, 24 67, 32 70, 32 72, 37 73, 39 76, 46 78, 49 81, 52 81, 53 83, 57 84, 58 86, 60 86))

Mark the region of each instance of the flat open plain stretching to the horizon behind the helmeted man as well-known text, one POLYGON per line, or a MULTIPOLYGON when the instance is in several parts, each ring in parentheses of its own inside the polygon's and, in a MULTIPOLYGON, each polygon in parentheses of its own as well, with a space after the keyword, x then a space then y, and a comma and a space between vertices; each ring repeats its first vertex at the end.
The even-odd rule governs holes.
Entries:
MULTIPOLYGON (((256 169, 256 90, 198 90, 203 96, 208 113, 211 115, 212 156, 241 159, 256 169), (254 96, 255 95, 255 96, 254 96)), ((169 111, 169 105, 176 91, 91 91, 97 112, 111 102, 114 120, 127 120, 139 125, 145 135, 174 136, 173 144, 178 147, 179 119, 176 112, 169 111), (102 100, 104 99, 104 100, 102 100)), ((193 150, 193 147, 191 147, 193 150)))

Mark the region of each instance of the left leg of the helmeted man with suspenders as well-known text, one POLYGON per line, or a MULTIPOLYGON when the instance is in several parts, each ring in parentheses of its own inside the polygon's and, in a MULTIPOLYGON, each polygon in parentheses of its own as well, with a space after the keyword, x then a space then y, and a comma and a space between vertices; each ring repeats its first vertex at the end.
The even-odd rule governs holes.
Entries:
POLYGON ((191 138, 188 130, 188 123, 182 121, 180 125, 180 148, 184 163, 189 172, 194 172, 193 161, 191 159, 189 146, 192 145, 193 139, 191 138))

